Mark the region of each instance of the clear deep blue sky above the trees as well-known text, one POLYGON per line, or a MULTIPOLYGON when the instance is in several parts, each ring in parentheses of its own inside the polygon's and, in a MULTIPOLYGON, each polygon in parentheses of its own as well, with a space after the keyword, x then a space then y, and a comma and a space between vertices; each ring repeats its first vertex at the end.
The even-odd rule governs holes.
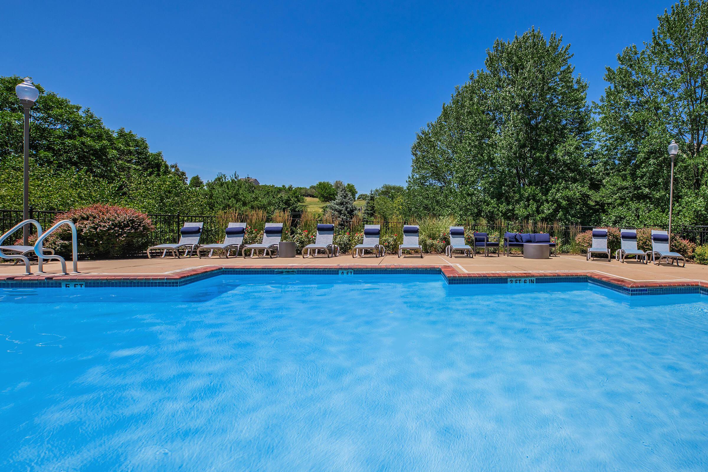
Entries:
POLYGON ((563 3, 11 1, 0 74, 33 76, 189 175, 367 191, 405 183, 416 131, 496 38, 563 35, 597 100, 605 66, 671 5, 563 3))

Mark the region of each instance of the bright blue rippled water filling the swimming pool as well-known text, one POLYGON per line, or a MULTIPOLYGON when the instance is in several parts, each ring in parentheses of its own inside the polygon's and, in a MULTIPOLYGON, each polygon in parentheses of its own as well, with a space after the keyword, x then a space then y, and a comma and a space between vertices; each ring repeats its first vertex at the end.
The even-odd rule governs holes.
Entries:
POLYGON ((3 471, 706 471, 708 304, 440 275, 0 292, 3 471))

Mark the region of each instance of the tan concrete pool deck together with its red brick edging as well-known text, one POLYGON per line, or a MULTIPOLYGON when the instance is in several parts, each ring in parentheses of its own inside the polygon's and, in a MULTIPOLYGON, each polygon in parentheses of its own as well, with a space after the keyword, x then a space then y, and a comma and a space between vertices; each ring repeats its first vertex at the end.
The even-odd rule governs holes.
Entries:
MULTIPOLYGON (((70 267, 70 264, 67 264, 70 267)), ((113 259, 79 261, 79 275, 61 276, 59 263, 45 263, 44 275, 25 276, 23 265, 0 265, 0 281, 30 282, 46 280, 173 280, 190 275, 198 275, 221 267, 234 269, 336 269, 337 267, 367 269, 401 269, 406 267, 438 267, 448 277, 574 277, 594 274, 608 282, 634 287, 682 287, 687 285, 708 287, 708 266, 687 264, 686 267, 663 264, 619 263, 617 260, 586 260, 584 255, 559 255, 547 260, 524 259, 521 255, 496 256, 476 255, 467 258, 455 255, 426 254, 423 258, 407 255, 385 255, 380 258, 367 255, 353 258, 340 255, 336 258, 324 256, 297 258, 164 258, 164 259, 113 259)), ((37 266, 31 270, 35 272, 37 266)))

